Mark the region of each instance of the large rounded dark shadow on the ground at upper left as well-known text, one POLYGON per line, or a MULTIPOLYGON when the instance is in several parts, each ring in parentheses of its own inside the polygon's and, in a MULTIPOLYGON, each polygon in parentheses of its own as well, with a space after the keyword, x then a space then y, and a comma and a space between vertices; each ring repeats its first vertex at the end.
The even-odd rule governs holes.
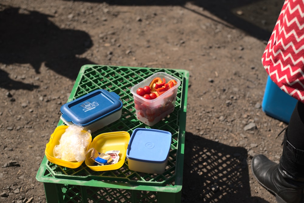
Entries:
MULTIPOLYGON (((0 5, 1 6, 1 5, 0 5)), ((94 64, 76 57, 92 47, 88 33, 60 29, 36 11, 3 6, 0 11, 0 62, 31 64, 40 73, 43 63, 58 74, 73 77, 84 64, 94 64)))

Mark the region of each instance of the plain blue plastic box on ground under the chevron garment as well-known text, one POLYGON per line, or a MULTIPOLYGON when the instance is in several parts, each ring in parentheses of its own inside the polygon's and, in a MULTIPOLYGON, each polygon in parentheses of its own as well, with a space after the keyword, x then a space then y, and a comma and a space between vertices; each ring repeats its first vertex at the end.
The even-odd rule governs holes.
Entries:
POLYGON ((297 100, 282 91, 268 76, 262 110, 269 116, 289 123, 297 100))

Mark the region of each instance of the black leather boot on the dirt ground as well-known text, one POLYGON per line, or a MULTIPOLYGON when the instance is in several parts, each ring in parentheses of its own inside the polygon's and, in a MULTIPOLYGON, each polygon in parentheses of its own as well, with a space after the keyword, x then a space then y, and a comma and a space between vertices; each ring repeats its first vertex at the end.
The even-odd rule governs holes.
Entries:
POLYGON ((304 151, 295 149, 287 140, 287 129, 283 141, 280 163, 264 155, 252 158, 251 170, 257 181, 275 194, 278 203, 304 202, 304 151))

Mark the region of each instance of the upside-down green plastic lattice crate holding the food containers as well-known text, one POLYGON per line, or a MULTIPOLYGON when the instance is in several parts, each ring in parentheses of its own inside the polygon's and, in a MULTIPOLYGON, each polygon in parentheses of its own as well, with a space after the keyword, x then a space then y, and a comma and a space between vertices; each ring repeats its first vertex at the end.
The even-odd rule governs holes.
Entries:
MULTIPOLYGON (((85 65, 81 67, 67 102, 96 89, 114 91, 123 101, 121 118, 92 133, 154 128, 172 133, 171 150, 163 174, 145 174, 129 170, 127 160, 118 170, 92 171, 85 163, 71 169, 51 163, 44 156, 36 179, 43 182, 47 202, 180 202, 183 176, 186 107, 189 73, 180 69, 85 65), (133 95, 135 84, 156 72, 165 72, 181 81, 175 109, 149 127, 135 115, 133 95)), ((58 126, 64 125, 60 120, 58 126)))

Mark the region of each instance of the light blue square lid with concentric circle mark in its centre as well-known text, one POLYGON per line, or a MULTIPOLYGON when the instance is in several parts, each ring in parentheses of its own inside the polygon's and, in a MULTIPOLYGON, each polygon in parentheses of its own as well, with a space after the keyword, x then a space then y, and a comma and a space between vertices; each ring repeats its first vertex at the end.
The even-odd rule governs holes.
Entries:
POLYGON ((163 163, 171 147, 171 132, 136 128, 129 141, 126 157, 149 163, 163 163))

